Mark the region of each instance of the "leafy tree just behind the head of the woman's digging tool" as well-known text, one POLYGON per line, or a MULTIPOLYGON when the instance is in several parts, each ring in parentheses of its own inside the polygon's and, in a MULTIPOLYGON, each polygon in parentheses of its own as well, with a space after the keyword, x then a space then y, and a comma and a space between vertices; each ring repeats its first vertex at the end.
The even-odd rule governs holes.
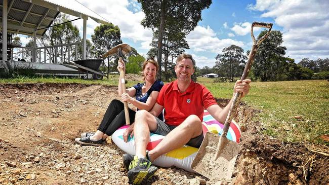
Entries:
MULTIPOLYGON (((102 58, 102 56, 112 49, 114 46, 121 44, 121 33, 118 26, 114 26, 112 23, 101 24, 94 29, 94 34, 92 35, 92 41, 94 46, 92 50, 93 55, 96 58, 102 58)), ((111 70, 116 70, 117 59, 110 64, 110 59, 115 58, 115 56, 107 57, 107 62, 111 70)))

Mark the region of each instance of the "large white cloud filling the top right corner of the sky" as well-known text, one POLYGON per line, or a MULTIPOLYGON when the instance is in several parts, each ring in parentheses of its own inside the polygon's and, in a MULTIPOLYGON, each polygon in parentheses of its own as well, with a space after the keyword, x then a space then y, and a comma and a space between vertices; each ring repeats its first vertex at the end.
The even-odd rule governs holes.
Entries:
POLYGON ((283 46, 286 56, 302 58, 329 56, 329 3, 325 0, 257 1, 251 10, 264 11, 261 17, 273 18, 283 27, 283 46))

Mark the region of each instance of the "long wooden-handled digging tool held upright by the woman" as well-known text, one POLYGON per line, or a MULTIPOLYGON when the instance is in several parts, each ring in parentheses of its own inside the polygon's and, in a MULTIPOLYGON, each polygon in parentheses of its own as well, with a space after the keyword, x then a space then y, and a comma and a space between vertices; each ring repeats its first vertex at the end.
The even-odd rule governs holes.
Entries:
MULTIPOLYGON (((124 57, 124 54, 129 53, 131 50, 132 48, 128 44, 119 44, 114 48, 112 48, 110 51, 106 52, 103 55, 103 58, 117 54, 119 56, 119 61, 123 63, 124 61, 122 60, 122 57, 124 57)), ((125 71, 122 69, 120 69, 120 78, 121 78, 122 92, 126 92, 125 71)), ((125 106, 126 125, 130 125, 127 101, 124 102, 124 106, 125 106)))

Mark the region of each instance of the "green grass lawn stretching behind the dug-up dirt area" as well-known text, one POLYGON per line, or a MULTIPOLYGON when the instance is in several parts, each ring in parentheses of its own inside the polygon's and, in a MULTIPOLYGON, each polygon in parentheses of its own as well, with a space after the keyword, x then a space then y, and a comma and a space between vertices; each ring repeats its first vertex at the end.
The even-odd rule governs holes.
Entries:
MULTIPOLYGON (((106 78, 105 78, 106 79, 106 78)), ((118 76, 110 80, 59 78, 0 79, 7 83, 81 83, 117 86, 118 76)), ((215 97, 231 98, 234 83, 213 83, 214 79, 198 78, 215 97)), ((129 81, 131 87, 136 82, 129 81)), ((326 80, 253 82, 248 96, 242 101, 262 110, 254 119, 262 123, 263 133, 283 141, 325 143, 319 136, 329 134, 329 82, 326 80), (294 118, 299 116, 300 119, 294 118)), ((329 144, 326 142, 325 144, 329 144)))

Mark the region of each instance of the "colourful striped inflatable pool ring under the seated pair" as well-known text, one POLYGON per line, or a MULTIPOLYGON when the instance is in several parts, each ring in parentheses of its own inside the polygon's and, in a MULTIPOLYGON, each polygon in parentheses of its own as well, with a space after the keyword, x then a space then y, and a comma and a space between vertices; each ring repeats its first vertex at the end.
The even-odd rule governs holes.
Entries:
MULTIPOLYGON (((124 134, 125 130, 129 126, 123 126, 117 129, 113 135, 112 140, 113 142, 124 152, 135 155, 135 140, 134 137, 129 137, 128 142, 124 141, 122 135, 124 134)), ((208 112, 204 110, 203 113, 203 122, 202 122, 202 129, 203 134, 207 131, 212 133, 221 134, 224 125, 217 122, 208 112)), ((241 131, 235 121, 231 122, 230 128, 227 133, 227 138, 239 142, 241 136, 241 131)), ((154 149, 154 147, 164 138, 165 136, 150 133, 150 141, 147 144, 146 149, 148 151, 154 149)), ((161 167, 170 167, 176 166, 178 168, 182 168, 186 171, 195 172, 191 168, 191 164, 193 159, 196 156, 198 149, 192 146, 184 145, 179 149, 173 150, 167 154, 163 154, 162 156, 158 157, 153 164, 161 167)))

